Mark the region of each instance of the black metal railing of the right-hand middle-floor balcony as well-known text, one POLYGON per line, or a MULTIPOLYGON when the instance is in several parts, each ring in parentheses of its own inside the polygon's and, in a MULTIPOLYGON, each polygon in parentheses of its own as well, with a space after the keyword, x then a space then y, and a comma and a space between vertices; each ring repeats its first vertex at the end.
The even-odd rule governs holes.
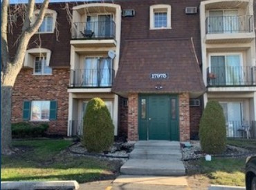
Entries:
POLYGON ((256 67, 208 67, 208 86, 256 85, 256 67))

